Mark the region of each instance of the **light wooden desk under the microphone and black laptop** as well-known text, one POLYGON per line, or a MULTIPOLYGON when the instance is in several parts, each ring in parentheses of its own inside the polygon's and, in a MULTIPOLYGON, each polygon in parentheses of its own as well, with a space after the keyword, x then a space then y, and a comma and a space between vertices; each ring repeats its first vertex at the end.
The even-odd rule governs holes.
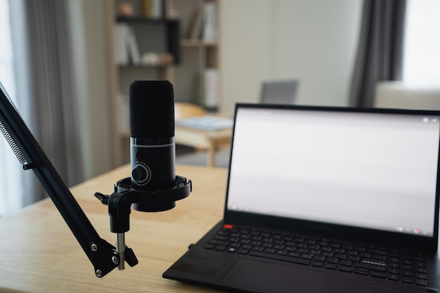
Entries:
MULTIPOLYGON (((0 292, 219 292, 162 278, 162 273, 222 216, 226 169, 176 167, 193 181, 193 193, 170 211, 131 211, 125 240, 139 263, 96 278, 93 266, 50 199, 0 219, 0 292)), ((71 188, 102 238, 115 243, 107 206, 93 196, 110 194, 129 176, 124 166, 71 188)))

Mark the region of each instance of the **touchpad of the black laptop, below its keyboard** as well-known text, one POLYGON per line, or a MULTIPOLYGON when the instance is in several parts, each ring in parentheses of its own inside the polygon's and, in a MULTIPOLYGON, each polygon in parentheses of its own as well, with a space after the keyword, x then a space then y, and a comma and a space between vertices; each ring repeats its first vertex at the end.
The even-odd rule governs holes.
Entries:
POLYGON ((238 259, 223 280, 253 290, 271 292, 321 292, 326 273, 276 263, 238 259))

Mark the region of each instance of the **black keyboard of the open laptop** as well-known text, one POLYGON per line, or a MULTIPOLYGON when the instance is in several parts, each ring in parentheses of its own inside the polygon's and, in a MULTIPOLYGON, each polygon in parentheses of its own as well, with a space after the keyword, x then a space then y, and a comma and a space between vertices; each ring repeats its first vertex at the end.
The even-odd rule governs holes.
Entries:
POLYGON ((205 249, 428 285, 425 256, 370 245, 224 225, 205 249))

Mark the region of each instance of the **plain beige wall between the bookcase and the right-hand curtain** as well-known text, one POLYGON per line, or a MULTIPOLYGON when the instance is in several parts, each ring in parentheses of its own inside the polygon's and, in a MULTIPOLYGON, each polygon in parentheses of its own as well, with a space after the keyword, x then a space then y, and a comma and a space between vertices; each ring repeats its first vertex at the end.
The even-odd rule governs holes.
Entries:
POLYGON ((298 104, 348 105, 361 0, 224 0, 222 112, 254 103, 264 79, 299 79, 298 104))

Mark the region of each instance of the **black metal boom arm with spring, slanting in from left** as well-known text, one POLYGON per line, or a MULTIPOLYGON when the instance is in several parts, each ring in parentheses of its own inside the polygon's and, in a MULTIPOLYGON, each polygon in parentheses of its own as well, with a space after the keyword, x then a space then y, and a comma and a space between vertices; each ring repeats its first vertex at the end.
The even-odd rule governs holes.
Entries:
MULTIPOLYGON (((23 122, 1 83, 0 89, 0 130, 22 163, 23 169, 34 171, 79 245, 89 257, 96 276, 103 277, 118 266, 119 254, 113 245, 99 237, 75 197, 23 122)), ((130 266, 135 266, 138 263, 136 256, 128 247, 125 249, 125 261, 130 266)))

